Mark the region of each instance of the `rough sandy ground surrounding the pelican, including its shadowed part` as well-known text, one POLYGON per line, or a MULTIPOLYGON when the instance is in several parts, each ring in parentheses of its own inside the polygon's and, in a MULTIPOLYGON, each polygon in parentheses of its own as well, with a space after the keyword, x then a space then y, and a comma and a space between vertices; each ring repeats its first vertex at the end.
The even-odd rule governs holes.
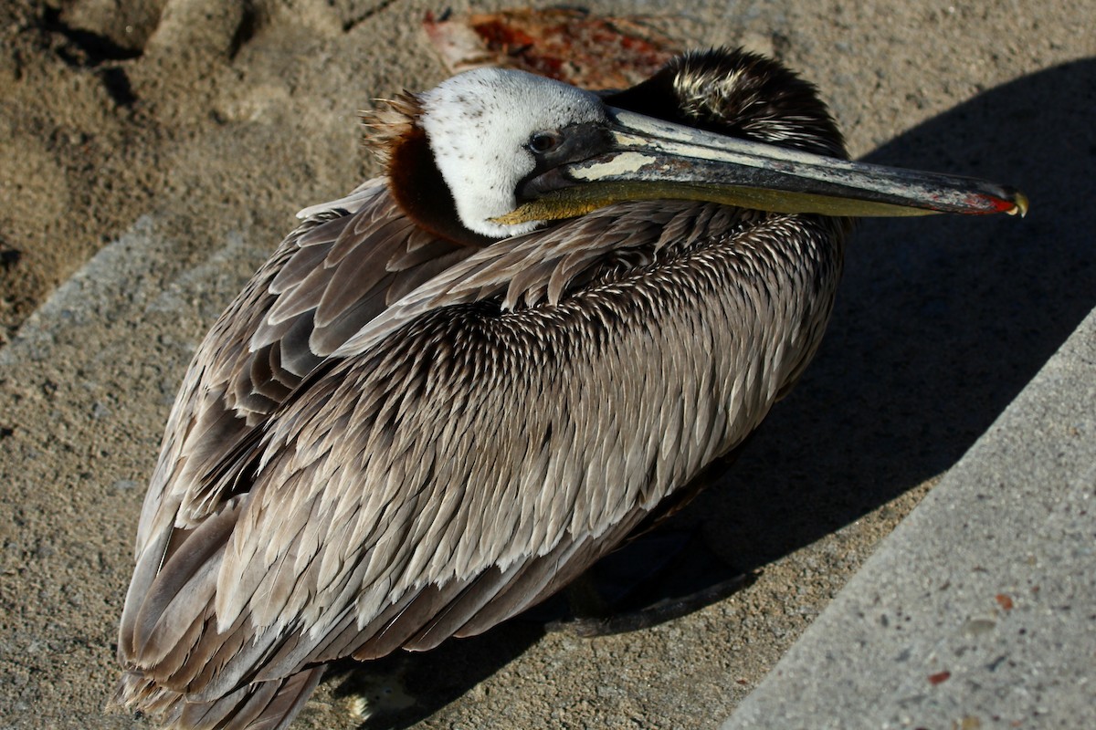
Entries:
MULTIPOLYGON (((775 54, 854 155, 1013 183, 1032 215, 861 227, 818 362, 683 515, 751 587, 637 634, 514 625, 342 673, 299 727, 716 725, 1096 303, 1089 3, 590 7, 775 54)), ((150 727, 101 708, 179 378, 293 213, 376 172, 356 111, 444 77, 427 10, 0 5, 0 728, 150 727)))

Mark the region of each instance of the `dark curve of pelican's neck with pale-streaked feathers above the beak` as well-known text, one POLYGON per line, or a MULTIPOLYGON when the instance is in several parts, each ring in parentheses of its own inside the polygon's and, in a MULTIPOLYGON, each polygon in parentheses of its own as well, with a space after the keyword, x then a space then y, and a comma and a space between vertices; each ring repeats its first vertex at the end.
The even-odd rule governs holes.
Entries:
POLYGON ((741 48, 692 51, 605 103, 666 121, 847 159, 814 84, 741 48))

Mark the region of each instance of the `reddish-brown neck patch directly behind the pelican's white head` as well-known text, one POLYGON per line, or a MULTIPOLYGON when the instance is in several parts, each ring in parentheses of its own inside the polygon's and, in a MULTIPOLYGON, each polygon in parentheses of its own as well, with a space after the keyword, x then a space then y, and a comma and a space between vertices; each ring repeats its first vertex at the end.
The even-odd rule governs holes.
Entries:
POLYGON ((481 248, 494 243, 494 239, 469 231, 460 222, 453 193, 421 128, 409 126, 389 147, 388 186, 396 204, 419 228, 465 246, 481 248))

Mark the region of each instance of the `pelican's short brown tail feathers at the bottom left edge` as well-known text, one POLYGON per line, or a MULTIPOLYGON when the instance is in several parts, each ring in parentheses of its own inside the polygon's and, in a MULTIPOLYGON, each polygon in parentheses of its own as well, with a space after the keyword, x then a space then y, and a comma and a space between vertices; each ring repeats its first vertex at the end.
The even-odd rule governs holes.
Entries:
POLYGON ((139 671, 122 675, 113 703, 159 716, 164 730, 285 730, 312 694, 326 665, 256 682, 208 703, 158 686, 139 671))

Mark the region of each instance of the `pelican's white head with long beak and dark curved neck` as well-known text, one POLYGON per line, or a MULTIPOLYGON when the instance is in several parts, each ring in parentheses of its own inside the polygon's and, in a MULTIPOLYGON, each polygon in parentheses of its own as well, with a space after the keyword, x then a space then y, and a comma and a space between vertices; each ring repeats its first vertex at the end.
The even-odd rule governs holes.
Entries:
POLYGON ((741 51, 688 54, 605 94, 477 69, 406 96, 401 111, 401 134, 386 139, 393 195, 424 228, 464 242, 636 199, 829 216, 1027 206, 982 181, 849 162, 814 86, 741 51))

